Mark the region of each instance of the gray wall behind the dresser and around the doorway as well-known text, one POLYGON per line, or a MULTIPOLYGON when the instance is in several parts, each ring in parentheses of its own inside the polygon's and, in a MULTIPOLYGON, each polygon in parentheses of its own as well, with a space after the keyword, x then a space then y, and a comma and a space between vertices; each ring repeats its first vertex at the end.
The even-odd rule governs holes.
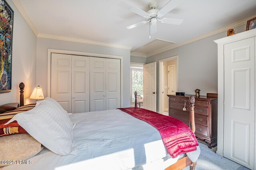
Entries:
MULTIPOLYGON (((235 28, 236 33, 245 29, 246 25, 235 28)), ((158 61, 175 55, 178 55, 178 92, 195 94, 194 90, 198 88, 201 90, 200 95, 203 96, 206 96, 206 93, 218 93, 218 48, 214 40, 226 36, 227 32, 224 31, 148 57, 147 63, 156 62, 156 101, 159 101, 158 61)), ((158 102, 156 110, 159 111, 158 102)))

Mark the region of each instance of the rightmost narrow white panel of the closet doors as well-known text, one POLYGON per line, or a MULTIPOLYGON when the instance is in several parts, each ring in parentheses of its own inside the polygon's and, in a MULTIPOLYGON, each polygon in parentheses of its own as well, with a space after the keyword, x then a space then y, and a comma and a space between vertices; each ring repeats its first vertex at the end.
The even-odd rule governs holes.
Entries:
POLYGON ((106 59, 106 109, 121 106, 121 71, 120 59, 106 59))

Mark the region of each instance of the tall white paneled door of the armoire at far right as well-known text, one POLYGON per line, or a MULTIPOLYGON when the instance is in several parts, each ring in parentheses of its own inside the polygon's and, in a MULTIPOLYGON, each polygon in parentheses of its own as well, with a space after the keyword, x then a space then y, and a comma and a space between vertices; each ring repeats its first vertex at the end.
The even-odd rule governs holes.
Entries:
POLYGON ((254 37, 224 45, 224 157, 254 169, 254 37))

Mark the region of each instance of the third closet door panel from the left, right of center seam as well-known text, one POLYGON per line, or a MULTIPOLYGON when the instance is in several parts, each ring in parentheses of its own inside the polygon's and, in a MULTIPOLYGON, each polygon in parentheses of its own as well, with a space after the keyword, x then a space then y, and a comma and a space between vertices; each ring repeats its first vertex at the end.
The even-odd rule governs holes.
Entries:
POLYGON ((90 57, 90 111, 106 110, 106 59, 90 57))

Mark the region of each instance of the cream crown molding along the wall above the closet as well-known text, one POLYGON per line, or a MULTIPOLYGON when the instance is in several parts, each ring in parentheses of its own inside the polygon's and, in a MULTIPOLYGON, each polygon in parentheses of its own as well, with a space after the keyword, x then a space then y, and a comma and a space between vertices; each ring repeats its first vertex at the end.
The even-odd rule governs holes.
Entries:
POLYGON ((37 37, 56 39, 56 40, 62 40, 62 41, 72 41, 72 42, 76 42, 76 43, 85 43, 85 44, 92 44, 92 45, 102 45, 102 46, 106 46, 106 47, 114 47, 114 48, 120 48, 120 49, 128 49, 128 50, 132 49, 132 47, 128 47, 128 46, 124 46, 124 45, 102 43, 102 42, 98 42, 98 41, 90 41, 90 40, 85 40, 85 39, 61 37, 61 36, 49 35, 49 34, 39 33, 37 37))

